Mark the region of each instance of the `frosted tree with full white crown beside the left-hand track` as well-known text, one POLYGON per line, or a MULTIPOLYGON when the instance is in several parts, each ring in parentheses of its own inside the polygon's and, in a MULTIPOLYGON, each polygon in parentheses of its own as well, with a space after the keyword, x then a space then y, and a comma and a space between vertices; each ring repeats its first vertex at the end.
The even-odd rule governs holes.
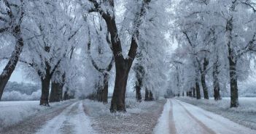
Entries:
MULTIPOLYGON (((66 12, 65 3, 58 1, 34 1, 28 13, 30 19, 26 33, 33 38, 26 41, 26 63, 33 67, 42 83, 41 105, 48 105, 50 80, 53 75, 63 81, 69 53, 73 51, 77 34, 82 25, 75 19, 74 12, 66 12)), ((82 18, 82 17, 80 17, 82 18)), ((66 77, 66 76, 65 76, 66 77)))

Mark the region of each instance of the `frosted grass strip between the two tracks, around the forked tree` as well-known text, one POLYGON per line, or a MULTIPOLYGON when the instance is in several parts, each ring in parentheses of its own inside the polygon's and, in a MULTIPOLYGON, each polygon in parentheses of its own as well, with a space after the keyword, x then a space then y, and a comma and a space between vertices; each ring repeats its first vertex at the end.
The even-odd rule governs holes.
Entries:
POLYGON ((98 133, 152 133, 163 110, 165 101, 141 101, 125 99, 126 111, 112 114, 109 104, 97 101, 84 101, 85 113, 92 121, 93 129, 98 133))

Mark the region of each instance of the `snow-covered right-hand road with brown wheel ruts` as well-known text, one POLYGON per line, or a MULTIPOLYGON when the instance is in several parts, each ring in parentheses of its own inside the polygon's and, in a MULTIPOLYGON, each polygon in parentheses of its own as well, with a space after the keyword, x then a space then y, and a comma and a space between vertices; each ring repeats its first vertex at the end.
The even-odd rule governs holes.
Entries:
POLYGON ((238 125, 225 117, 177 99, 168 99, 154 132, 156 134, 256 133, 255 130, 238 125))

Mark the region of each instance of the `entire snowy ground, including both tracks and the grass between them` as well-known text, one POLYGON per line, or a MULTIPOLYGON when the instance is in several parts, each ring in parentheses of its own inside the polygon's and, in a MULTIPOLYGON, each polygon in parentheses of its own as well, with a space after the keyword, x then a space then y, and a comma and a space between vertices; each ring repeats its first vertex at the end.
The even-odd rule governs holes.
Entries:
POLYGON ((229 108, 229 100, 190 98, 161 101, 126 99, 126 113, 109 112, 109 104, 90 100, 71 100, 39 106, 39 101, 0 103, 1 134, 255 134, 255 99, 240 99, 241 107, 229 108), (232 116, 232 121, 212 109, 232 116), (248 109, 250 108, 250 109, 248 109), (245 119, 244 119, 245 117, 245 119), (249 122, 239 125, 233 120, 249 122), (247 127, 245 127, 247 126, 247 127))

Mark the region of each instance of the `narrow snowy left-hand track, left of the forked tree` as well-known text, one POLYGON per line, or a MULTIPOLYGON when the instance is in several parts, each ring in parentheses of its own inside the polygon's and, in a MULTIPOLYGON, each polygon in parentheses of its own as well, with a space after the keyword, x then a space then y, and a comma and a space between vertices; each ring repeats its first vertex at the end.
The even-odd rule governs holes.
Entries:
POLYGON ((71 104, 61 112, 58 116, 49 120, 36 134, 94 134, 94 130, 90 126, 90 119, 84 113, 82 101, 71 104))

